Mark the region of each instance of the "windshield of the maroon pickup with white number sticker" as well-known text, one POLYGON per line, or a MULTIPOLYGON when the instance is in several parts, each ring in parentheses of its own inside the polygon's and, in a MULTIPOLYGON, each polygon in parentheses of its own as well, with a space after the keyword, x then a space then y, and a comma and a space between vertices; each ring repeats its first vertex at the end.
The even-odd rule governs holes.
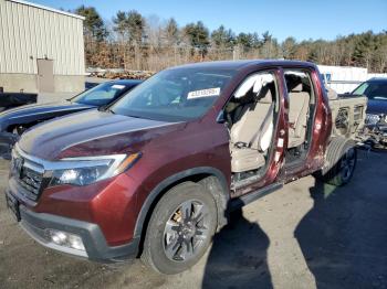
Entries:
POLYGON ((163 71, 130 90, 111 111, 164 121, 186 121, 210 109, 236 71, 181 67, 163 71))

